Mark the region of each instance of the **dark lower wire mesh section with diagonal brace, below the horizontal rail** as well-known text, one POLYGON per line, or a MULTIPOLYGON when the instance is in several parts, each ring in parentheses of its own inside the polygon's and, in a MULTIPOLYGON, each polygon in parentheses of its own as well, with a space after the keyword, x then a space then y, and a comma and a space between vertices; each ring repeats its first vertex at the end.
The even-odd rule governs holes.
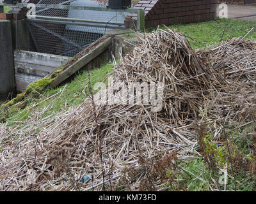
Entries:
POLYGON ((67 24, 29 22, 37 52, 72 57, 98 40, 102 33, 93 33, 83 25, 79 31, 67 29, 67 24))

